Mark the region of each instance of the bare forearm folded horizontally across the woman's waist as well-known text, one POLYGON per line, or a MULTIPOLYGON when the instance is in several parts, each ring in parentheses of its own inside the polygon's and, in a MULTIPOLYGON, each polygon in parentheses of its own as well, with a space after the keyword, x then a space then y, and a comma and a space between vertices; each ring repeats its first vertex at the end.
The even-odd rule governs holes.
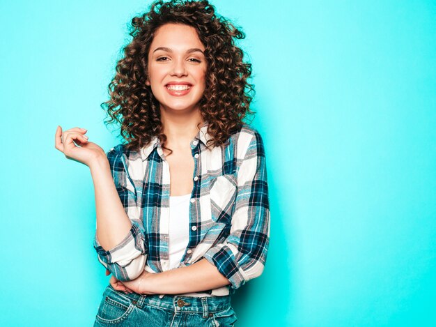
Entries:
POLYGON ((206 259, 186 267, 148 275, 146 290, 156 294, 182 294, 216 289, 230 284, 206 259))

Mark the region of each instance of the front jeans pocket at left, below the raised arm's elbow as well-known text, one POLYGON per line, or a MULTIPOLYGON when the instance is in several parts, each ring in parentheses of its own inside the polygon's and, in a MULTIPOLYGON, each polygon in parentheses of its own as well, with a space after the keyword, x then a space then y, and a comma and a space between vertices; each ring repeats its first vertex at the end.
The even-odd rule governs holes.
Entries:
POLYGON ((109 286, 104 291, 95 320, 100 324, 118 324, 129 317, 134 307, 130 298, 118 294, 109 286))

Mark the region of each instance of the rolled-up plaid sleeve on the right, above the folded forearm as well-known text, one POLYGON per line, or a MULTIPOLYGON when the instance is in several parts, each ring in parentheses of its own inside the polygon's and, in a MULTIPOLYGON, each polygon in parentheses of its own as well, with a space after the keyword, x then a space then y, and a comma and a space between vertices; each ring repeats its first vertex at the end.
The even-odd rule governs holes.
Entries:
POLYGON ((238 289, 265 268, 270 240, 270 204, 263 139, 255 130, 238 158, 238 192, 230 234, 203 257, 238 289))

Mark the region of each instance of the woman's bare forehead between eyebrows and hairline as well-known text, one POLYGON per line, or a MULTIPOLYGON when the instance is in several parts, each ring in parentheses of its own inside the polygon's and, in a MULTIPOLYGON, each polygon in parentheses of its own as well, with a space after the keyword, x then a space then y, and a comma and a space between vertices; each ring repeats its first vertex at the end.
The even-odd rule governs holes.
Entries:
POLYGON ((153 52, 157 47, 170 47, 175 50, 198 47, 204 50, 196 29, 185 24, 164 24, 155 31, 150 50, 153 52))

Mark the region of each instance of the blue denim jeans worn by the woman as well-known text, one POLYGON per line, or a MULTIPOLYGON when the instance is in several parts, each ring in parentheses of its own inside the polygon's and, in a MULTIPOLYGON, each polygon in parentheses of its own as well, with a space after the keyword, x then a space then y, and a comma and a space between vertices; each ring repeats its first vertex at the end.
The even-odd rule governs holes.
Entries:
POLYGON ((116 291, 109 284, 94 326, 234 326, 231 296, 146 295, 116 291))

